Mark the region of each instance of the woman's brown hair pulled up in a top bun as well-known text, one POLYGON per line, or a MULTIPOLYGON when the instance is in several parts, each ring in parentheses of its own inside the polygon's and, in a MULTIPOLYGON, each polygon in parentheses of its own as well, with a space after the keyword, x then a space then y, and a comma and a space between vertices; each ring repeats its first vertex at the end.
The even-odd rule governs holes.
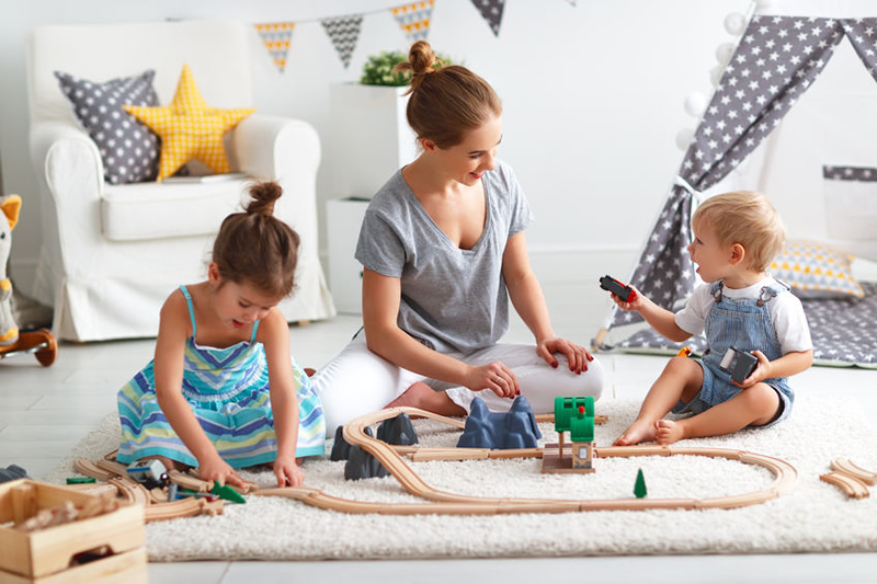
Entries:
POLYGON ((502 114, 502 102, 490 84, 459 65, 442 66, 425 41, 411 45, 408 61, 394 71, 410 71, 406 116, 418 138, 441 149, 457 146, 466 131, 502 114))

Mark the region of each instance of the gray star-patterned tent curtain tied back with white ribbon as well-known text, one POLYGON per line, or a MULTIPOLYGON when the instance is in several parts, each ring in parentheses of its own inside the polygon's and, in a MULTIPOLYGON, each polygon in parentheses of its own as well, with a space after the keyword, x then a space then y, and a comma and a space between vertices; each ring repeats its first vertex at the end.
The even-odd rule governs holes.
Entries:
MULTIPOLYGON (((844 37, 877 80, 877 19, 753 16, 630 277, 643 295, 667 309, 691 296, 695 277, 686 247, 695 193, 718 183, 770 135, 844 37)), ((641 321, 616 311, 611 327, 641 321)))

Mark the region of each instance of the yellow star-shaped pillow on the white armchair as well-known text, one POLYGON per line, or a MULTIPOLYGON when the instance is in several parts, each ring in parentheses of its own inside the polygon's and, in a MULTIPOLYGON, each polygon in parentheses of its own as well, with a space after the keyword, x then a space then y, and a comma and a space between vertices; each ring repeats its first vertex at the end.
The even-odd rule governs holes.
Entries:
POLYGON ((183 66, 173 103, 158 107, 123 105, 161 138, 158 182, 196 158, 217 173, 231 172, 223 136, 255 110, 210 107, 201 95, 192 70, 183 66))

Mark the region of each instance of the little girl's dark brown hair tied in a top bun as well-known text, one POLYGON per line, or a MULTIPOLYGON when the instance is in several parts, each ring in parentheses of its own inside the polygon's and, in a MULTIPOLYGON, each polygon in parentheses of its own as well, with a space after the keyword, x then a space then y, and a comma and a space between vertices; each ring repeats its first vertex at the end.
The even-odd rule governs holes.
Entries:
POLYGON ((285 298, 295 285, 300 238, 274 217, 274 203, 283 194, 281 185, 261 182, 249 193, 246 210, 223 221, 213 244, 213 261, 223 279, 285 298))

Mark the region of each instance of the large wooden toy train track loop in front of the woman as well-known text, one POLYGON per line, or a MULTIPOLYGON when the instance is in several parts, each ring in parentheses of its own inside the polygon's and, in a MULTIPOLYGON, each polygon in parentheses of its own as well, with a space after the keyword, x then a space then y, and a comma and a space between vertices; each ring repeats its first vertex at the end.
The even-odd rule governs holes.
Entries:
POLYGON ((798 471, 777 458, 734 450, 729 448, 697 448, 673 446, 606 446, 597 447, 599 458, 634 457, 634 456, 706 456, 727 458, 747 465, 756 465, 770 470, 774 481, 764 489, 738 495, 707 499, 602 499, 602 500, 554 500, 554 499, 512 499, 482 497, 460 495, 441 491, 428 484, 406 463, 403 457, 412 460, 463 460, 469 458, 513 458, 542 457, 543 448, 525 448, 519 450, 485 450, 470 448, 418 448, 391 446, 373 438, 365 428, 384 420, 396 417, 401 413, 410 416, 429 417, 462 428, 460 420, 449 419, 424 412, 415 408, 392 408, 360 416, 344 426, 344 439, 363 448, 378 459, 399 484, 409 493, 426 501, 426 503, 366 503, 335 497, 317 489, 307 486, 286 486, 262 489, 257 494, 266 496, 284 496, 301 501, 324 509, 344 513, 378 513, 383 515, 411 514, 446 514, 446 515, 492 515, 500 513, 566 513, 572 511, 613 511, 613 509, 650 509, 650 508, 736 508, 756 505, 788 493, 798 479, 798 471), (497 453, 497 454, 494 454, 497 453))

